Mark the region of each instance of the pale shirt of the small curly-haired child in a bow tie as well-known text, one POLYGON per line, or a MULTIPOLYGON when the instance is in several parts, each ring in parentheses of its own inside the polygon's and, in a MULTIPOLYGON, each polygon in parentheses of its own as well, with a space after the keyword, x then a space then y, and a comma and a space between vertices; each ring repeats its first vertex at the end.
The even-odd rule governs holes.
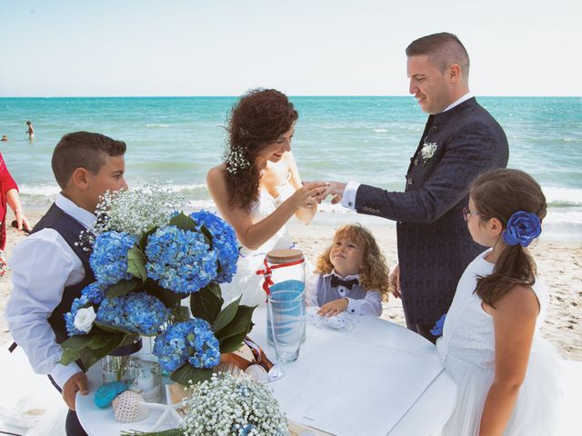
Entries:
MULTIPOLYGON (((307 306, 319 306, 317 302, 317 282, 319 282, 319 276, 327 277, 330 275, 336 275, 342 280, 352 280, 357 279, 359 281, 359 274, 356 275, 346 275, 342 277, 334 270, 328 274, 311 273, 307 276, 306 280, 306 305, 307 306)), ((350 290, 344 288, 343 286, 337 287, 337 292, 339 292, 340 298, 346 297, 347 299, 347 309, 346 312, 355 315, 376 315, 380 316, 382 314, 382 295, 377 291, 367 291, 366 296, 363 299, 349 298, 347 295, 350 290)))

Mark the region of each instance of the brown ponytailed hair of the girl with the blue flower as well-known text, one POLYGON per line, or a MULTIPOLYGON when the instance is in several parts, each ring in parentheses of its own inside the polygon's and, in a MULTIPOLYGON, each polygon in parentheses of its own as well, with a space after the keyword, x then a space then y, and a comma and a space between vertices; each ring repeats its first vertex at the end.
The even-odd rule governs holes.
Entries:
MULTIPOLYGON (((470 196, 480 221, 497 218, 504 230, 511 215, 517 211, 536 213, 540 221, 547 212, 546 197, 539 184, 519 170, 499 169, 481 174, 472 184, 470 196)), ((521 245, 507 245, 491 275, 477 278, 475 292, 495 308, 495 303, 514 286, 532 286, 536 282, 536 273, 534 259, 521 245)))

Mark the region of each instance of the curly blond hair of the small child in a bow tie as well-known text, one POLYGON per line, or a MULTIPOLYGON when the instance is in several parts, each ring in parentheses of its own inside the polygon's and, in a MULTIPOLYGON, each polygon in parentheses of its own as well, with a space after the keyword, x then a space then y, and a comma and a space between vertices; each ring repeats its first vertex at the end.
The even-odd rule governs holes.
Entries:
POLYGON ((333 243, 319 254, 315 272, 324 274, 332 272, 334 265, 329 260, 329 253, 338 239, 364 243, 364 260, 362 270, 359 273, 360 284, 366 290, 379 291, 387 300, 390 270, 386 265, 386 258, 380 252, 374 235, 359 223, 347 224, 336 230, 333 243))

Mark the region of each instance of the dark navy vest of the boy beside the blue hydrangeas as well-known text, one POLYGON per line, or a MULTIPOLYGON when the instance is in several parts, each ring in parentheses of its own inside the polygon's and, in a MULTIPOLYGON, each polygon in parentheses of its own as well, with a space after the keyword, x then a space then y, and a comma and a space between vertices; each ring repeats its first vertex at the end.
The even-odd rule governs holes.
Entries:
POLYGON ((61 343, 68 338, 65 327, 65 313, 71 312, 73 301, 75 298, 81 296, 81 291, 83 291, 85 286, 89 283, 95 282, 95 275, 89 266, 90 253, 85 252, 83 246, 75 245, 75 243, 80 242, 79 234, 86 230, 83 224, 77 222, 75 218, 67 215, 62 209, 53 203, 48 212, 45 213, 45 216, 36 223, 35 228, 31 233, 36 233, 46 228, 55 230, 63 237, 66 243, 68 243, 71 249, 75 252, 76 256, 81 260, 83 267, 85 268, 85 278, 81 282, 71 286, 65 286, 61 302, 55 307, 55 310, 48 318, 48 322, 51 324, 51 327, 53 327, 53 331, 55 331, 56 342, 61 343))

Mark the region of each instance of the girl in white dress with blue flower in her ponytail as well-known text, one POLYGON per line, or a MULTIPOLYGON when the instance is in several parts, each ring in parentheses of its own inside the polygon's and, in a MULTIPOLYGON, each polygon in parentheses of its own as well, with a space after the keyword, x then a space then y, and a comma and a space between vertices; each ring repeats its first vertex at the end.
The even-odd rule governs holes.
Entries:
POLYGON ((484 173, 471 187, 468 229, 490 249, 467 266, 437 341, 458 388, 443 435, 553 434, 559 363, 539 333, 548 296, 526 248, 546 208, 521 171, 484 173))

